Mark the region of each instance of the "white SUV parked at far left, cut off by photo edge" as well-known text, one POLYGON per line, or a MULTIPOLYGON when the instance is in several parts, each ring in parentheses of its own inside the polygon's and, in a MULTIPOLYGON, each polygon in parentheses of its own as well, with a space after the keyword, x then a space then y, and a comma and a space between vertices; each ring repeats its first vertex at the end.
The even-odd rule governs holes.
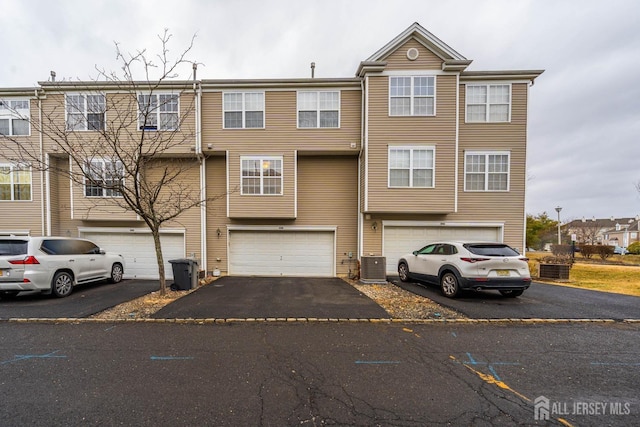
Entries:
POLYGON ((107 254, 95 243, 65 237, 0 237, 0 298, 20 291, 66 297, 73 286, 122 280, 122 255, 107 254))

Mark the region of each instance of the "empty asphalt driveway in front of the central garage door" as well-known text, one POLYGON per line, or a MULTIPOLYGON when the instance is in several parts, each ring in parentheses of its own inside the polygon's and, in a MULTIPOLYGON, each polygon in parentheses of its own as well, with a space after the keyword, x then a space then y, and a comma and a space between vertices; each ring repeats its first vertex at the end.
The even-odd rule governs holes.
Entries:
POLYGON ((382 307, 338 278, 221 277, 165 306, 165 318, 388 318, 382 307))

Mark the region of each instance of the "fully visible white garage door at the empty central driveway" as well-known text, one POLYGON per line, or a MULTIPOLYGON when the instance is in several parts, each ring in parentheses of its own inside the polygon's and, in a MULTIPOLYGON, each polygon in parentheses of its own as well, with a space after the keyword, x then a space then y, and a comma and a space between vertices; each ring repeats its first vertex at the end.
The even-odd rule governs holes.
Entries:
POLYGON ((333 231, 231 230, 229 274, 334 276, 333 231))

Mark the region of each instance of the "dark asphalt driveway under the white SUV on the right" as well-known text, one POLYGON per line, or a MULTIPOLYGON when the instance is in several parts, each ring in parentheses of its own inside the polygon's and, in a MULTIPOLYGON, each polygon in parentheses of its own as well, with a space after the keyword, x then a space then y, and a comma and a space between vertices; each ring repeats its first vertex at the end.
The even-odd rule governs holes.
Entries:
POLYGON ((517 298, 498 291, 468 291, 452 299, 435 285, 388 280, 472 319, 640 319, 640 297, 610 292, 534 282, 517 298))

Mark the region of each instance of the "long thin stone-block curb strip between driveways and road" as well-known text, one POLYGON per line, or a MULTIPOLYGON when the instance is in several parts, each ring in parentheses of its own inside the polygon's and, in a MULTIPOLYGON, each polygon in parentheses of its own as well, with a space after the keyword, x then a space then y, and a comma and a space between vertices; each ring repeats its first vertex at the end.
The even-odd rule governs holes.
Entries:
POLYGON ((266 318, 206 318, 206 319, 92 319, 92 318, 9 318, 0 323, 173 323, 182 325, 211 325, 232 323, 373 323, 373 324, 584 324, 584 323, 640 323, 640 319, 360 319, 360 318, 315 318, 315 317, 266 317, 266 318))

